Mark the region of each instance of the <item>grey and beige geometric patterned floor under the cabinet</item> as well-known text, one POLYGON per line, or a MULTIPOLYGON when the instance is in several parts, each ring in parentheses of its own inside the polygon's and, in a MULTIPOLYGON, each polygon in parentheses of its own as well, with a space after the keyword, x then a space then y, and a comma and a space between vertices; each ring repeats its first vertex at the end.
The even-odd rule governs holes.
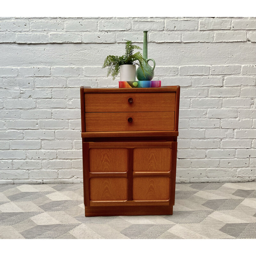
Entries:
POLYGON ((173 215, 84 217, 83 184, 0 185, 1 239, 255 239, 256 182, 176 184, 173 215))

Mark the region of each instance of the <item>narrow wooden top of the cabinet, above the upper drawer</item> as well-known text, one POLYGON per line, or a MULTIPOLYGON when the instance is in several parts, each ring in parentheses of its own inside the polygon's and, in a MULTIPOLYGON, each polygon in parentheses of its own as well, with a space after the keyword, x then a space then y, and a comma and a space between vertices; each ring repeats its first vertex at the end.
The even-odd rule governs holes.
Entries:
POLYGON ((95 92, 177 92, 180 86, 163 86, 160 88, 89 88, 81 86, 85 93, 95 92))

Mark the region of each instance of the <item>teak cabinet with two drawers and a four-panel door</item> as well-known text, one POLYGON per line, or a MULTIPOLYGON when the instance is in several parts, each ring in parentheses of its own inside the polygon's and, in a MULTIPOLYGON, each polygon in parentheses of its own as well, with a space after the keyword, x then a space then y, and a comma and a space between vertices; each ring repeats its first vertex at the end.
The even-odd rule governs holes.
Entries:
POLYGON ((80 92, 85 216, 172 214, 180 86, 80 92))

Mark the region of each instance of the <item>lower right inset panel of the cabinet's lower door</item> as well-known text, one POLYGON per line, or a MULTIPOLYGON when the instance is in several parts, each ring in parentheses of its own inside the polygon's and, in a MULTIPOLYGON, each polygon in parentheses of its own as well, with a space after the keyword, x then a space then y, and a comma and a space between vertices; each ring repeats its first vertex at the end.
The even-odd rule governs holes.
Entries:
POLYGON ((169 199, 170 178, 134 177, 133 200, 169 199))

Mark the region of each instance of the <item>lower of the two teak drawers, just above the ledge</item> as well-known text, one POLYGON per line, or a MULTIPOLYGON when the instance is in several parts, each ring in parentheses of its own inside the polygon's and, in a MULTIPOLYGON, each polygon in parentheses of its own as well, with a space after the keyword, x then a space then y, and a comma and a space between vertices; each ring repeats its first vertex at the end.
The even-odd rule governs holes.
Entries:
POLYGON ((162 131, 174 129, 175 112, 85 113, 86 132, 162 131), (128 122, 128 118, 133 121, 128 122))

